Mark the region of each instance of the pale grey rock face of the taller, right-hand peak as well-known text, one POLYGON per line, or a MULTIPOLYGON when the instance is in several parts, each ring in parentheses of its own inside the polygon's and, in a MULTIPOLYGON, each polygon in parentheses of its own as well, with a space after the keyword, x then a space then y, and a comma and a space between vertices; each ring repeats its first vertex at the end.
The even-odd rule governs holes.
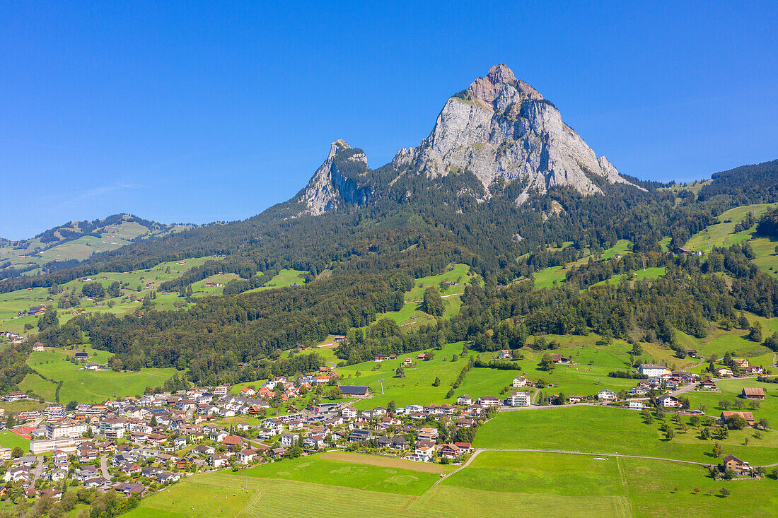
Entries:
POLYGON ((433 177, 470 170, 487 191, 500 177, 524 180, 527 187, 518 204, 554 186, 601 193, 592 177, 629 184, 562 122, 552 103, 503 64, 476 79, 464 95, 451 97, 429 137, 419 147, 401 149, 393 163, 433 177))

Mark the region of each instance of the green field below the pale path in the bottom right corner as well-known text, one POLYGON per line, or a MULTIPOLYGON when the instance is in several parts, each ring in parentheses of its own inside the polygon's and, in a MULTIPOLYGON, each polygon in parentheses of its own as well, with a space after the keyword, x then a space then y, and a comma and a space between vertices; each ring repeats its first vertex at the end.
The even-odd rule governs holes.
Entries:
POLYGON ((713 481, 702 467, 555 453, 481 453, 439 487, 442 495, 429 492, 412 509, 440 513, 445 502, 461 502, 462 489, 465 495, 478 492, 489 506, 480 511, 489 516, 492 506, 497 516, 511 510, 513 516, 772 516, 778 505, 772 479, 727 484, 713 481), (726 500, 709 494, 722 485, 731 490, 726 500))

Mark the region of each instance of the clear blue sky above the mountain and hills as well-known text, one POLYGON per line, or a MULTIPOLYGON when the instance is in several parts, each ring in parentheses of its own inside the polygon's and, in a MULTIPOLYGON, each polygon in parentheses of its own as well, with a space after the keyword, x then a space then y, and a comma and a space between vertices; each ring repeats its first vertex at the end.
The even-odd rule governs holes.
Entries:
POLYGON ((418 145, 500 61, 624 173, 778 158, 775 2, 326 3, 0 3, 0 236, 247 218, 337 138, 418 145))

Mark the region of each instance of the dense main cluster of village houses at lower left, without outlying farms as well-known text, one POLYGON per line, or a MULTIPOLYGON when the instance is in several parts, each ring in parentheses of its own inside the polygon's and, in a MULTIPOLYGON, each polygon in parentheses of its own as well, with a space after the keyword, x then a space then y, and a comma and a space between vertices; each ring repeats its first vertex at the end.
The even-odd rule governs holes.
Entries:
MULTIPOLYGON (((409 404, 390 412, 380 407, 357 411, 351 403, 332 402, 261 419, 254 425, 219 424, 240 415, 248 420, 259 408, 268 407, 265 399, 254 396, 268 397, 275 391, 293 394, 298 388, 276 377, 257 394, 245 388, 231 394, 225 385, 79 404, 72 411, 51 405, 17 412, 17 420, 25 424, 16 432, 30 436, 31 456, 12 458, 11 449, 0 448, 0 460, 9 463, 0 495, 21 487, 30 497, 57 498, 61 493, 56 487, 63 480, 101 492, 144 495, 196 470, 254 464, 327 448, 366 447, 426 462, 457 460, 471 453, 470 443, 443 441, 439 428, 430 423, 444 420, 451 429, 473 429, 490 406, 501 403, 496 397, 474 401, 463 395, 457 405, 409 404), (38 464, 41 457, 44 460, 38 464)), ((370 394, 368 387, 340 388, 344 394, 370 394)), ((14 398, 26 395, 7 397, 18 401, 14 398)))

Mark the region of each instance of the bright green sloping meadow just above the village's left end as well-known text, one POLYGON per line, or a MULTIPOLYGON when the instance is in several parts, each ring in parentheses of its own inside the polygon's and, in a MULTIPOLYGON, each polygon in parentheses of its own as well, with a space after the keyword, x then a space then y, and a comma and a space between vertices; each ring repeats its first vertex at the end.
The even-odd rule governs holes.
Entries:
MULTIPOLYGON (((113 354, 105 351, 89 351, 89 362, 103 364, 113 354)), ((81 350, 78 348, 77 350, 81 350)), ((59 392, 59 401, 68 403, 101 403, 117 397, 136 396, 143 394, 145 387, 161 387, 165 381, 176 373, 176 369, 142 369, 140 372, 120 372, 112 370, 90 371, 80 365, 68 362, 65 358, 75 354, 76 350, 51 349, 46 352, 33 352, 28 365, 47 380, 36 374, 28 374, 19 385, 22 390, 33 390, 35 394, 47 401, 54 401, 56 384, 53 381, 63 381, 59 392)))

